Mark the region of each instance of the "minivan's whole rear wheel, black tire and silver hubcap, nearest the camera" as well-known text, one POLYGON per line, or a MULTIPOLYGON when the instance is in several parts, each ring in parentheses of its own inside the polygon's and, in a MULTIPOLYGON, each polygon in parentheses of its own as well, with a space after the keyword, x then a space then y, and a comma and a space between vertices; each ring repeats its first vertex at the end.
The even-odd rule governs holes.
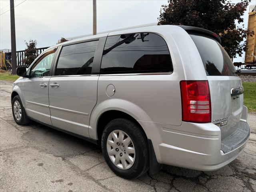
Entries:
POLYGON ((148 146, 141 128, 118 118, 110 121, 102 134, 102 152, 108 166, 118 176, 132 179, 148 170, 148 146))

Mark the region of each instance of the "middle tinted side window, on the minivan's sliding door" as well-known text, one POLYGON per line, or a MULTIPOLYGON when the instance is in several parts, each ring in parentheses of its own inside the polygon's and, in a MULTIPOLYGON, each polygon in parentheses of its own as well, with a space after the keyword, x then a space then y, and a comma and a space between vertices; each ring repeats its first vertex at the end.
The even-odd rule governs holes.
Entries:
POLYGON ((55 75, 91 74, 98 41, 64 46, 60 52, 55 75))

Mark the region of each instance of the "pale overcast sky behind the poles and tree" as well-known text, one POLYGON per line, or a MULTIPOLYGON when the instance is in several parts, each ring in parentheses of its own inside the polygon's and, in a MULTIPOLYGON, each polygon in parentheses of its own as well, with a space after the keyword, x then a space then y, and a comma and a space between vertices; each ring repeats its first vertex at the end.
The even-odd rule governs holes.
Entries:
MULTIPOLYGON (((37 47, 52 46, 61 37, 92 33, 92 0, 14 0, 16 47, 37 40, 37 47)), ((157 22, 167 0, 97 0, 97 31, 157 22)), ((232 0, 237 3, 240 0, 232 0)), ((256 4, 252 0, 250 5, 256 4), (254 3, 253 3, 254 2, 254 3)), ((10 49, 10 0, 0 0, 0 49, 10 49), (7 11, 7 12, 6 12, 7 11), (6 12, 6 13, 4 13, 6 12), (4 13, 4 14, 3 14, 4 13)), ((248 10, 244 14, 247 26, 248 10)), ((235 61, 241 62, 243 58, 235 61)))

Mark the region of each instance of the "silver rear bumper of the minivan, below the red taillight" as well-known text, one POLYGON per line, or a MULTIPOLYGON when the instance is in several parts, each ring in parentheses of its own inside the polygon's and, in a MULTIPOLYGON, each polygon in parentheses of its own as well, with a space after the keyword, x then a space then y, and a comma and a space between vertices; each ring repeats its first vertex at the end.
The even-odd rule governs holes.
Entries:
MULTIPOLYGON (((221 150, 223 144, 220 128, 212 123, 182 122, 180 126, 172 126, 138 122, 146 127, 146 134, 152 140, 158 163, 194 170, 217 170, 232 162, 242 152, 250 136, 247 122, 241 120, 240 128, 247 128, 248 132, 239 142, 230 142, 228 147, 231 150, 224 153, 221 150)), ((237 141, 236 138, 234 141, 237 141)))

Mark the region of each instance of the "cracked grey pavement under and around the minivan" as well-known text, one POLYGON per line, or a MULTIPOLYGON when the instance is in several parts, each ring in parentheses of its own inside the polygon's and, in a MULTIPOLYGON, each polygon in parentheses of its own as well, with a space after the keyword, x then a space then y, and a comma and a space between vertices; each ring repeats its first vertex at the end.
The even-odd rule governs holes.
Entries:
POLYGON ((0 81, 0 191, 256 192, 256 114, 248 114, 250 139, 240 156, 220 170, 202 172, 165 165, 134 180, 116 176, 99 146, 12 117, 12 83, 0 81))

